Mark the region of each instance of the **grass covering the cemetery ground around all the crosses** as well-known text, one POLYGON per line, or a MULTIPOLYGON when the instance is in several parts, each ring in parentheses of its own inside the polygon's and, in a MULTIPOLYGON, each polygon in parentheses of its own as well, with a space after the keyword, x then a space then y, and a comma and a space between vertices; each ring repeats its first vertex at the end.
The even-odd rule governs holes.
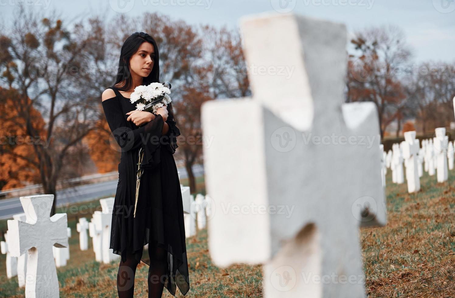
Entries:
MULTIPOLYGON (((436 183, 435 176, 424 173, 421 191, 410 195, 406 184, 391 182, 388 172, 387 226, 359 231, 370 298, 455 297, 454 180, 455 171, 445 183, 436 183)), ((198 181, 197 190, 205 193, 203 180, 198 181)), ((0 222, 0 228, 3 224, 0 222)), ((61 297, 117 297, 118 261, 96 262, 91 239, 87 251, 79 249, 75 218, 69 217, 68 226, 73 231, 71 258, 66 267, 57 268, 61 297)), ((191 288, 185 297, 262 297, 260 265, 222 269, 213 266, 209 256, 207 230, 187 238, 191 288)), ((147 297, 147 271, 148 266, 138 266, 136 297, 147 297)), ((0 277, 0 297, 24 297, 17 278, 5 277, 5 255, 0 256, 0 277)), ((183 297, 178 289, 176 295, 183 297)), ((173 296, 164 289, 163 297, 173 296)))

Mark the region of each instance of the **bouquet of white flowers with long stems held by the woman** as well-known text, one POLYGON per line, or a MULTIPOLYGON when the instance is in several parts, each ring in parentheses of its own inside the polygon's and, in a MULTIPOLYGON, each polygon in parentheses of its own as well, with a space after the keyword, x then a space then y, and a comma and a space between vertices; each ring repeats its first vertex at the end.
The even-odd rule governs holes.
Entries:
MULTIPOLYGON (((136 102, 137 111, 146 111, 151 112, 156 115, 157 110, 162 106, 167 106, 171 102, 171 83, 164 82, 162 83, 152 83, 148 86, 140 85, 134 88, 133 93, 131 93, 130 101, 131 103, 136 102)), ((144 152, 142 147, 139 148, 139 162, 137 163, 136 171, 136 202, 134 204, 134 215, 136 217, 136 206, 137 198, 139 196, 139 186, 141 185, 141 177, 144 172, 141 169, 142 159, 144 157, 144 152)))

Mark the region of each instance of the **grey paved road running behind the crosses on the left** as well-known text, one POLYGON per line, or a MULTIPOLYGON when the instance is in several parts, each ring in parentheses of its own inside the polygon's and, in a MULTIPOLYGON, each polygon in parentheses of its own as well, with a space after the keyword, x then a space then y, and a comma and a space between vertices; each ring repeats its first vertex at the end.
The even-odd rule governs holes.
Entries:
MULTIPOLYGON (((177 168, 180 172, 180 179, 187 178, 187 171, 183 167, 177 168)), ((204 174, 201 165, 193 166, 195 177, 204 174)), ((115 196, 117 180, 86 184, 57 191, 57 207, 67 203, 79 203, 94 201, 98 198, 115 196)), ((20 205, 19 197, 0 200, 0 219, 12 218, 14 214, 24 212, 20 205)))

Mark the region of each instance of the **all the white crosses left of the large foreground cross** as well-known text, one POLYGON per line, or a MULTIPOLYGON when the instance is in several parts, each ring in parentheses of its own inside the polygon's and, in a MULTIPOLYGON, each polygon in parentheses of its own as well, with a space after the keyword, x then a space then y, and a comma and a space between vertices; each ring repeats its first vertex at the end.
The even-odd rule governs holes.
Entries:
MULTIPOLYGON (((198 209, 193 196, 189 195, 189 187, 181 187, 184 211, 193 219, 185 219, 185 223, 191 222, 187 233, 187 237, 190 237, 196 234, 198 209)), ((0 242, 1 252, 6 254, 7 277, 18 276, 19 286, 25 286, 27 298, 58 297, 56 267, 66 266, 70 258, 68 238, 71 237, 71 228, 67 227, 66 213, 49 216, 53 198, 53 195, 20 197, 25 212, 15 214, 13 220, 8 221, 5 241, 0 242), (50 260, 50 256, 53 260, 50 260), (44 287, 45 283, 38 280, 40 277, 48 278, 49 286, 44 287), (25 280, 29 282, 25 283, 25 280)), ((109 248, 114 200, 114 197, 101 199, 102 211, 95 211, 90 223, 86 218, 80 218, 76 223, 81 250, 88 249, 88 229, 93 239, 96 260, 103 263, 120 258, 109 248)))

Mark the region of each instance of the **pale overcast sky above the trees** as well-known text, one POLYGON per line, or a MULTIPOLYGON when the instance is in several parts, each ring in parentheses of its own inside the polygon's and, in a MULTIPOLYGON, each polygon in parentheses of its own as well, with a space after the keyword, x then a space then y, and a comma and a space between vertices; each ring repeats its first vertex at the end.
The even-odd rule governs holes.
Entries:
MULTIPOLYGON (((0 0, 8 21, 23 0, 0 0)), ((77 15, 161 12, 191 24, 238 26, 242 15, 264 11, 307 15, 346 24, 349 32, 371 25, 401 27, 414 52, 413 61, 455 62, 455 0, 25 0, 36 10, 77 15), (281 6, 280 6, 281 4, 281 6)))

